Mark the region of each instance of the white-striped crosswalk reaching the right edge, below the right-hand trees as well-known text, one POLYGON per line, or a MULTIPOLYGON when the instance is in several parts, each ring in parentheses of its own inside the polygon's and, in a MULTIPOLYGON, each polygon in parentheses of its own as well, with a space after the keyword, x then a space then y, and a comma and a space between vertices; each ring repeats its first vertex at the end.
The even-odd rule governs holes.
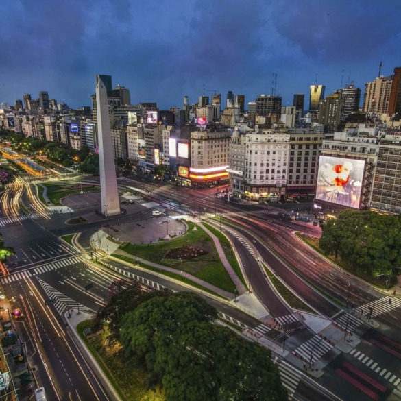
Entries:
POLYGON ((399 306, 401 306, 400 299, 396 297, 382 297, 368 304, 358 306, 349 311, 349 313, 342 313, 335 319, 335 323, 341 326, 343 330, 347 328, 347 330, 353 332, 366 321, 367 316, 370 315, 370 308, 372 308, 372 317, 376 317, 383 313, 391 312, 399 306))

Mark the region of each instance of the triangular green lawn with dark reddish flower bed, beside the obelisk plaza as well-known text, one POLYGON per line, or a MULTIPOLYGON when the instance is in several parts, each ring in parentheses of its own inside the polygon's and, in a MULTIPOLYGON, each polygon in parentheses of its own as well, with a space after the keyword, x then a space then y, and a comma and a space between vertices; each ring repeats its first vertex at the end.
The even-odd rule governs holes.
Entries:
POLYGON ((188 223, 188 226, 189 230, 186 234, 169 241, 160 241, 152 244, 123 243, 120 249, 139 258, 173 267, 177 269, 178 274, 181 270, 186 271, 216 287, 234 293, 234 282, 232 282, 229 274, 220 262, 213 241, 202 228, 197 227, 197 230, 193 230, 195 227, 193 223, 188 223), (194 247, 206 253, 194 258, 191 258, 189 255, 184 255, 180 258, 170 256, 174 254, 174 251, 182 247, 194 247))

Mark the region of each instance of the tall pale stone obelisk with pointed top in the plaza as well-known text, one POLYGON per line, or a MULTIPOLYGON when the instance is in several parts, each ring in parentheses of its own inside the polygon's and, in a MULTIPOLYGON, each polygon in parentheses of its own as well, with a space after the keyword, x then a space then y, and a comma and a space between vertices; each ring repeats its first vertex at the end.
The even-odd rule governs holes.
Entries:
MULTIPOLYGON (((110 77, 111 80, 111 77, 110 77)), ((119 215, 119 193, 117 189, 114 151, 108 114, 107 88, 96 76, 97 132, 99 143, 99 173, 101 212, 104 216, 119 215)))

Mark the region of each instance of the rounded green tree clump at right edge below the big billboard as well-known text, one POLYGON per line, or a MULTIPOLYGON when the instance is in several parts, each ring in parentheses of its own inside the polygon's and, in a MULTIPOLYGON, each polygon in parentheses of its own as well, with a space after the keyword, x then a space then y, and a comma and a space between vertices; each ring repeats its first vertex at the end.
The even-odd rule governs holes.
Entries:
POLYGON ((369 210, 343 210, 323 226, 320 247, 356 271, 377 277, 401 265, 401 219, 369 210))

